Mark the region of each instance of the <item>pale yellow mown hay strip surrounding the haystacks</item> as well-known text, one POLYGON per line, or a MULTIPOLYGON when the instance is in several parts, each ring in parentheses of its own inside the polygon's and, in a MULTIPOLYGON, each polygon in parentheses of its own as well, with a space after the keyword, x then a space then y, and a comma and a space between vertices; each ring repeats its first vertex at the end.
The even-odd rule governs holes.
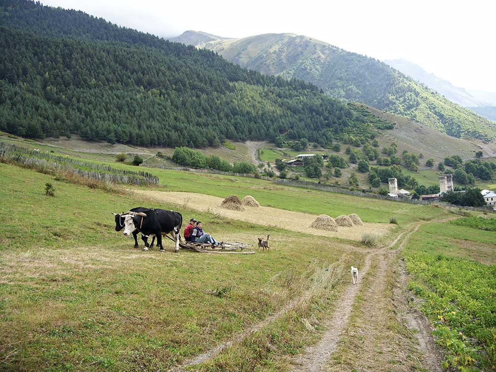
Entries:
MULTIPOLYGON (((234 220, 251 222, 258 225, 283 228, 290 231, 305 232, 312 235, 334 237, 360 241, 363 233, 374 233, 378 236, 386 234, 392 228, 391 224, 365 223, 364 226, 338 227, 337 232, 317 230, 310 228, 317 215, 287 211, 283 209, 259 207, 247 207, 246 211, 234 211, 221 208, 222 198, 210 195, 197 194, 193 192, 177 191, 149 191, 134 190, 139 195, 145 195, 156 201, 168 204, 184 205, 198 211, 211 212, 234 220), (283 221, 283 222, 279 222, 283 221), (279 222, 276 224, 275 222, 279 222)), ((186 216, 185 216, 186 217, 186 216)), ((333 216, 337 217, 337 216, 333 216)))

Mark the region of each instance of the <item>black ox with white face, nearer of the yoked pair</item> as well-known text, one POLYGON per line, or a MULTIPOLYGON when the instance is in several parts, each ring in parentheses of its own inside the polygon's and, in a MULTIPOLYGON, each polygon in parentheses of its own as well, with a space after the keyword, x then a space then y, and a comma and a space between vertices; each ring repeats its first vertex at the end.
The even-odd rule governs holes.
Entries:
MULTIPOLYGON (((157 246, 164 251, 162 235, 170 234, 176 242, 174 251, 179 250, 183 216, 179 212, 165 209, 147 209, 141 212, 129 211, 124 218, 124 235, 129 236, 138 229, 143 235, 155 235, 157 246)), ((144 250, 146 250, 145 248, 144 250)))

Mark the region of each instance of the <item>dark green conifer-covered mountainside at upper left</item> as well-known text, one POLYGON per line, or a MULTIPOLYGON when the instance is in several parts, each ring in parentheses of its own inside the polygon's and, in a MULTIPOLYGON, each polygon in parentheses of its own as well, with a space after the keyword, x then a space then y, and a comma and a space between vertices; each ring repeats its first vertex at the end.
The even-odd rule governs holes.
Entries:
POLYGON ((316 86, 81 11, 0 0, 0 130, 205 147, 280 134, 324 143, 368 125, 316 86))

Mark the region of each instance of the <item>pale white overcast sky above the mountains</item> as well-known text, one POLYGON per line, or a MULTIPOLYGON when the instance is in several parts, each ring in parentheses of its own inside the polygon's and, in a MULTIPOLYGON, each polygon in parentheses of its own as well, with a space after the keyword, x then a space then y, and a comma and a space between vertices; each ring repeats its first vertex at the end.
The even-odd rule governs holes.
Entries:
POLYGON ((496 91, 496 1, 42 0, 158 36, 292 32, 379 60, 404 58, 456 86, 496 91))

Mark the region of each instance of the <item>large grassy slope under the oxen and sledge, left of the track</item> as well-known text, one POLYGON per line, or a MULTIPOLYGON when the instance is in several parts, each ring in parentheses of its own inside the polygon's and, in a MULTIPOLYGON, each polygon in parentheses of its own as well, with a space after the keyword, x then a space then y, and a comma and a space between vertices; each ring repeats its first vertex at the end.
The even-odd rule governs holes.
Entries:
POLYGON ((163 370, 277 310, 315 270, 360 261, 329 238, 200 212, 222 239, 270 233, 270 256, 174 254, 171 245, 142 253, 114 231, 110 212, 143 201, 5 164, 0 181, 9 185, 1 212, 15 216, 0 228, 3 370, 163 370))

